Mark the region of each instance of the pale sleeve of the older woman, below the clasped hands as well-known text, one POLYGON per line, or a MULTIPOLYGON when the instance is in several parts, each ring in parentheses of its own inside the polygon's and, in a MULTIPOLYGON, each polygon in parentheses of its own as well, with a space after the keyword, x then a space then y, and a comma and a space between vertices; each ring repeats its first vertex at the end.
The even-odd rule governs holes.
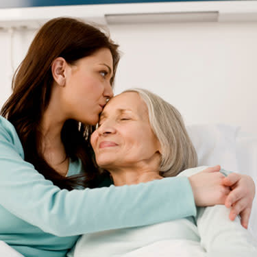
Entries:
POLYGON ((230 209, 223 205, 197 209, 201 246, 208 256, 257 256, 254 237, 243 228, 239 217, 230 221, 230 209))

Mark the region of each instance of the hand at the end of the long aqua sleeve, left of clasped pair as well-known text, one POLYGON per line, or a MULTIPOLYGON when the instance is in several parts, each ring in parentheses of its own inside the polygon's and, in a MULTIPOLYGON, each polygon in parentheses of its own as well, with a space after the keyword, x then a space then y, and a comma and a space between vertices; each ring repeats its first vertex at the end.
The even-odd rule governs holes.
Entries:
POLYGON ((191 175, 191 183, 196 206, 214 206, 225 204, 225 199, 230 193, 230 186, 223 183, 225 175, 219 172, 219 165, 210 167, 191 175))

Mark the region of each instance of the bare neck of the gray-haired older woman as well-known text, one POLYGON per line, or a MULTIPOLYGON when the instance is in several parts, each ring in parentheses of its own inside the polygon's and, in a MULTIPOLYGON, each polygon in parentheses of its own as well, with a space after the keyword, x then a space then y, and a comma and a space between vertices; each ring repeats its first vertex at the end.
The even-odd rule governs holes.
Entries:
POLYGON ((162 177, 159 175, 158 169, 147 168, 123 168, 112 169, 109 171, 115 186, 124 186, 145 183, 152 180, 160 180, 162 177))

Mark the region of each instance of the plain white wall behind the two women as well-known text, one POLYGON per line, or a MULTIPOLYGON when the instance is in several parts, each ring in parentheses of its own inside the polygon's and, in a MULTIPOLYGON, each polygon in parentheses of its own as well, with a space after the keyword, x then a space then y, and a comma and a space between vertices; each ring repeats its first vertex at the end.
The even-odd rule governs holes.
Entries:
MULTIPOLYGON (((115 93, 149 88, 192 123, 229 123, 257 132, 257 23, 112 25, 121 45, 115 93)), ((14 35, 14 64, 34 32, 14 35)), ((0 106, 10 95, 10 37, 0 34, 0 106)))

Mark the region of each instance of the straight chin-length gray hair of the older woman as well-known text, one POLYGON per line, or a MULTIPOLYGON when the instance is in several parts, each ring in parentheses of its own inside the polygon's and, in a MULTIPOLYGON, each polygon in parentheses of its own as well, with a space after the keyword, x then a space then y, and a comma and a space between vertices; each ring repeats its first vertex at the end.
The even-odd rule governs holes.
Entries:
POLYGON ((197 166, 197 153, 178 110, 158 95, 143 88, 123 91, 138 93, 145 101, 149 123, 161 146, 160 175, 172 177, 197 166))

